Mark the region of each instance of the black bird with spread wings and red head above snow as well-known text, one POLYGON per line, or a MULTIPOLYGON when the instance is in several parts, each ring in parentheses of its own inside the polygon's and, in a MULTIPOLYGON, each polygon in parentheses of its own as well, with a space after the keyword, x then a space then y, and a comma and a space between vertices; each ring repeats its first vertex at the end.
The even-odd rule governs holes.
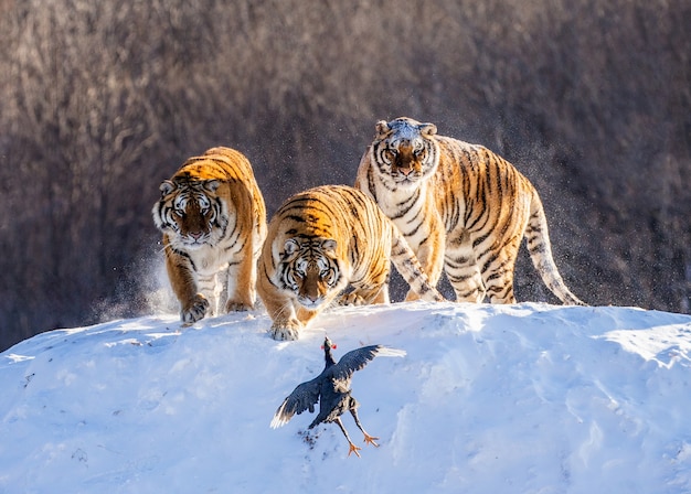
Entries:
POLYGON ((336 345, 329 336, 325 337, 323 357, 326 361, 323 370, 317 377, 298 385, 294 391, 286 397, 280 407, 276 410, 272 420, 272 429, 285 426, 295 414, 300 415, 305 410, 315 411, 315 405, 319 402, 319 414, 309 425, 308 429, 325 422, 336 422, 346 436, 350 450, 348 455, 355 453, 360 458, 359 451, 362 448, 357 447, 348 436, 348 431, 341 421, 341 415, 350 411, 355 425, 364 434, 364 442, 379 448, 376 441, 379 438, 370 436, 365 432, 358 418, 357 408, 359 402, 351 395, 350 383, 355 370, 364 368, 376 356, 402 357, 405 351, 391 348, 383 345, 363 346, 346 353, 338 363, 333 359, 331 350, 336 350, 336 345))

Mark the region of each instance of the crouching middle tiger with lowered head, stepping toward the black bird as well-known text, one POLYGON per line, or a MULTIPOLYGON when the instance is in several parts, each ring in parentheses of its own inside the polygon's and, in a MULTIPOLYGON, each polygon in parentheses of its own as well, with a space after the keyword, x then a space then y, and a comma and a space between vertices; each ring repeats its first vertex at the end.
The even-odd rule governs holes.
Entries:
POLYGON ((288 197, 269 222, 258 262, 272 336, 297 340, 332 302, 389 303, 391 262, 421 299, 444 300, 395 225, 361 191, 322 185, 288 197))

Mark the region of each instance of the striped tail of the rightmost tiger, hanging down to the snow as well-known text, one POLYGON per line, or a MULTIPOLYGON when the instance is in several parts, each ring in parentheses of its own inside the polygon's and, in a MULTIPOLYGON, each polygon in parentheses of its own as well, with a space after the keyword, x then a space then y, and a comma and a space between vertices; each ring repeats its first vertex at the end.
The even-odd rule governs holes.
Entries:
POLYGON ((525 227, 525 244, 533 266, 552 293, 565 305, 587 305, 568 290, 556 269, 550 245, 548 219, 544 215, 542 201, 540 201, 536 192, 533 192, 530 203, 530 218, 525 227))

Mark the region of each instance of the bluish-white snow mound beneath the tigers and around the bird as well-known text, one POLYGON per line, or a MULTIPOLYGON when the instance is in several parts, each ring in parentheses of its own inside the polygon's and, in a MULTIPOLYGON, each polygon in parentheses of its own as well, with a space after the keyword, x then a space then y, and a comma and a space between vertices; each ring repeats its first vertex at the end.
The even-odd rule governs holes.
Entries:
POLYGON ((691 492, 691 316, 637 308, 338 308, 297 342, 262 310, 55 330, 0 354, 0 493, 691 492), (360 345, 365 430, 295 416, 299 383, 360 345))

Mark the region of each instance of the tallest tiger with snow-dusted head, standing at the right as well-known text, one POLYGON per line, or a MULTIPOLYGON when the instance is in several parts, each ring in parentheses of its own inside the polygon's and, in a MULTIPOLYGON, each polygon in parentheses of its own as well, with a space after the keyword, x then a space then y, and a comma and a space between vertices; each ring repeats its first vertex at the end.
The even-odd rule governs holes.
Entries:
MULTIPOLYGON (((437 136, 434 124, 380 120, 354 186, 398 226, 433 284, 446 273, 457 301, 515 303, 525 237, 548 288, 564 304, 585 305, 559 273, 535 187, 489 149, 437 136)), ((406 300, 415 298, 408 292, 406 300)))

